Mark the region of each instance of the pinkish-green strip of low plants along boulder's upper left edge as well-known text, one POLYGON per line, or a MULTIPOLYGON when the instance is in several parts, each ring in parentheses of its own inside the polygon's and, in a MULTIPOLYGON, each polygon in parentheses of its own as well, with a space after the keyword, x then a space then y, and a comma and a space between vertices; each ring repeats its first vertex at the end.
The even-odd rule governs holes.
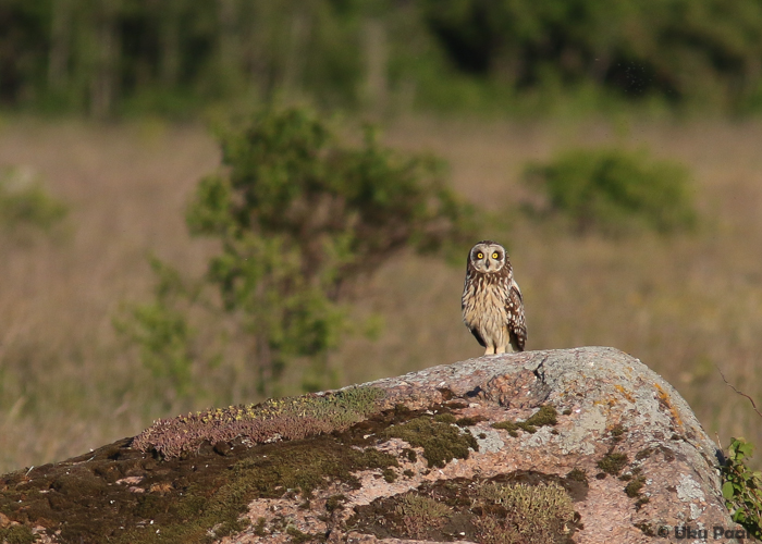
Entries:
POLYGON ((354 387, 325 395, 214 408, 159 420, 137 435, 132 445, 142 452, 156 450, 172 458, 196 452, 205 442, 228 443, 237 437, 255 443, 300 440, 348 429, 377 411, 376 403, 384 395, 378 387, 354 387))

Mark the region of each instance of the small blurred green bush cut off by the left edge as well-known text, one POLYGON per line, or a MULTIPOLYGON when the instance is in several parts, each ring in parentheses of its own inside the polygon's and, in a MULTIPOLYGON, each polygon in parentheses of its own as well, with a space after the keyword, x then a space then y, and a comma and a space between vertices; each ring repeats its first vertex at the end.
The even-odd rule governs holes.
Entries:
POLYGON ((37 177, 19 168, 0 170, 0 222, 9 230, 29 225, 49 231, 66 215, 37 177))

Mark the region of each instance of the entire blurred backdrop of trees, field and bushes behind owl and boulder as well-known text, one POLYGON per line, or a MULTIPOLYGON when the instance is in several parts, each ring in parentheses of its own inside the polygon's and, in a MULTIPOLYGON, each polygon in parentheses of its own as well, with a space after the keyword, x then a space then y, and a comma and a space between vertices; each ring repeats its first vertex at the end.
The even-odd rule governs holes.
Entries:
POLYGON ((0 471, 479 355, 484 238, 760 443, 760 112, 758 0, 0 0, 0 471))

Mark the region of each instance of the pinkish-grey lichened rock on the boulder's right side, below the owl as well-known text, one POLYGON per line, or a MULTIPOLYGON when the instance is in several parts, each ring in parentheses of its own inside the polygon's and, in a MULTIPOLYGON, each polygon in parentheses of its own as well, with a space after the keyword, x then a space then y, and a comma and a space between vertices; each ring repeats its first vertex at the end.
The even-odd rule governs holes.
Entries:
MULTIPOLYGON (((329 521, 319 520, 315 511, 255 500, 248 512, 255 526, 268 528, 291 516, 293 527, 303 533, 330 531, 329 540, 335 542, 347 537, 512 542, 509 536, 494 536, 506 531, 488 520, 487 510, 494 504, 482 503, 476 510, 471 505, 479 503, 479 489, 487 483, 515 489, 526 481, 555 482, 570 497, 575 515, 549 533, 556 542, 564 542, 564 536, 578 543, 649 542, 661 540, 665 531, 675 537, 677 530, 681 536, 684 528, 708 529, 711 537, 714 527, 735 528, 720 493, 714 444, 668 383, 618 350, 486 356, 366 385, 386 392, 384 408, 404 404, 446 410, 452 424, 459 423, 462 432, 476 438, 478 450, 431 469, 421 448, 413 447, 417 457, 410 460, 404 454, 410 444, 379 438, 373 445, 398 459, 400 467, 393 469, 398 478, 393 482, 367 471, 358 474, 359 489, 325 490, 314 500, 318 510, 321 500, 336 494, 344 497, 329 521), (527 425, 521 423, 531 421, 541 407, 554 408, 555 423, 523 429, 527 425), (447 483, 458 491, 444 493, 447 483), (415 495, 440 497, 450 511, 425 518, 426 527, 416 529, 414 521, 405 521, 402 502, 415 495)), ((226 542, 280 539, 278 533, 245 533, 226 542)), ((552 541, 545 537, 527 534, 520 542, 552 541)))

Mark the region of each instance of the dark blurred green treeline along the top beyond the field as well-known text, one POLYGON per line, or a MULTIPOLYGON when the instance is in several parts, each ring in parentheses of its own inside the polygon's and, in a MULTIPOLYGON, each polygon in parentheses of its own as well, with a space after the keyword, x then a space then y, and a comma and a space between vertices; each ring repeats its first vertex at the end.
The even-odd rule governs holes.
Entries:
POLYGON ((0 30, 0 104, 48 113, 762 108, 757 0, 3 0, 0 30))

